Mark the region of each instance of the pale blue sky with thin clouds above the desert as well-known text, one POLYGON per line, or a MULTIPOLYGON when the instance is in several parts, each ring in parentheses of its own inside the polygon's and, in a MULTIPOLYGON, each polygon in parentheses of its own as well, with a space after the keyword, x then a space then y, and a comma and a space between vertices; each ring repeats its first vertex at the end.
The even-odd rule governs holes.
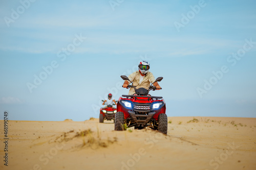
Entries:
POLYGON ((0 111, 98 117, 106 94, 128 93, 120 75, 146 59, 164 77, 152 94, 168 116, 256 117, 255 1, 118 2, 0 1, 0 111), (29 89, 34 76, 45 80, 29 89))

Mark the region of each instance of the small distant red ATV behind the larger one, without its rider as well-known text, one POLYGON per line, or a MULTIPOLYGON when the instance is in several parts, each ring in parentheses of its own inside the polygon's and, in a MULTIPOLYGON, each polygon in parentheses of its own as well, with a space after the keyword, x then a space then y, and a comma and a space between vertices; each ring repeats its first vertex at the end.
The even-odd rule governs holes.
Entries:
MULTIPOLYGON (((102 100, 102 102, 104 102, 102 100)), ((104 104, 107 105, 107 104, 104 104)), ((116 105, 116 104, 113 104, 116 105)), ((115 113, 116 113, 116 108, 113 107, 113 105, 107 105, 104 108, 100 108, 100 113, 99 113, 99 123, 103 123, 104 120, 114 120, 115 122, 115 113)))

